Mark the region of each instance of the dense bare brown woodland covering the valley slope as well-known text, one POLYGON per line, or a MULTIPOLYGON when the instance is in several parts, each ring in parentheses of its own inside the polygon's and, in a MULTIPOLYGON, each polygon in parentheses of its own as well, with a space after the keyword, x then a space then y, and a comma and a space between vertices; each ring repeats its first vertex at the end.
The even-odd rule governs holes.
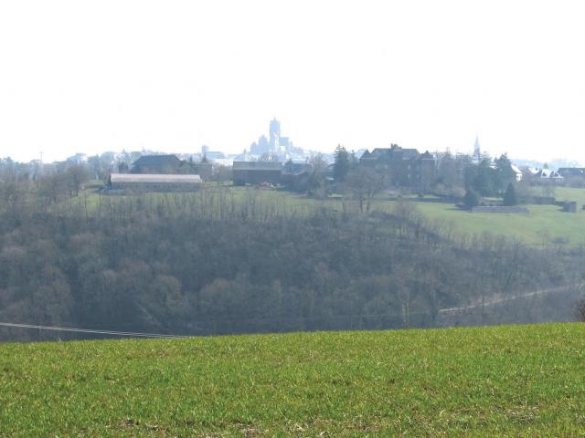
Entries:
MULTIPOLYGON (((72 176, 69 175, 71 181, 72 176)), ((585 253, 535 249, 428 223, 414 203, 299 213, 250 189, 54 199, 0 184, 0 321, 225 334, 434 327, 441 308, 577 285, 585 253)), ((561 302, 512 300, 465 323, 570 318, 561 302)), ((74 335, 0 328, 0 339, 74 335)))

